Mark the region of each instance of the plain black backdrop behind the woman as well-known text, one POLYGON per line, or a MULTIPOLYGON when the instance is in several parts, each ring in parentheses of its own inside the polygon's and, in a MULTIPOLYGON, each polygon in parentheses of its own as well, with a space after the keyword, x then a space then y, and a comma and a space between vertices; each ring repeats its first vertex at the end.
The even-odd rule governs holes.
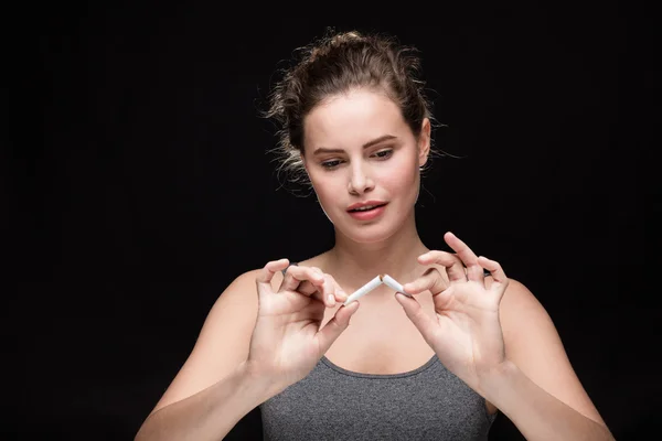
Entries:
MULTIPOLYGON (((236 276, 332 245, 314 198, 280 186, 258 112, 282 61, 333 25, 421 51, 447 125, 437 147, 465 158, 437 159, 425 181, 426 244, 452 230, 525 283, 617 439, 642 439, 661 392, 660 194, 652 15, 630 4, 420 6, 399 20, 221 2, 26 11, 7 41, 18 283, 2 430, 131 439, 236 276)), ((259 433, 254 411, 229 438, 259 433)), ((491 439, 519 437, 500 416, 491 439)))

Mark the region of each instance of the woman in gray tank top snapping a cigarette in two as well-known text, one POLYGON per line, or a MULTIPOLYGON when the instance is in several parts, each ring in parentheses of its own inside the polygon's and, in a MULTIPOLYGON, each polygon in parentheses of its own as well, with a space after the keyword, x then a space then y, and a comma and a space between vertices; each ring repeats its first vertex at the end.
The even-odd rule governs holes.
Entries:
POLYGON ((351 32, 285 75, 268 112, 284 166, 309 179, 335 244, 234 280, 137 439, 218 440, 257 406, 273 440, 484 440, 498 410, 530 440, 612 439, 533 294, 451 233, 455 252, 420 240, 431 116, 417 68, 351 32), (343 304, 377 275, 408 295, 381 286, 343 304))

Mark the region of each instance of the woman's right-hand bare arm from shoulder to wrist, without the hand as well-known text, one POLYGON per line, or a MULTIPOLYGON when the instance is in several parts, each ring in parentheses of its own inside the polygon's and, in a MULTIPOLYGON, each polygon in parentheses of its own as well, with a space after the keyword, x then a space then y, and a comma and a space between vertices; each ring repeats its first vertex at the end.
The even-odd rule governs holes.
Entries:
POLYGON ((511 279, 500 315, 508 362, 483 378, 481 394, 527 440, 613 440, 531 291, 511 279))

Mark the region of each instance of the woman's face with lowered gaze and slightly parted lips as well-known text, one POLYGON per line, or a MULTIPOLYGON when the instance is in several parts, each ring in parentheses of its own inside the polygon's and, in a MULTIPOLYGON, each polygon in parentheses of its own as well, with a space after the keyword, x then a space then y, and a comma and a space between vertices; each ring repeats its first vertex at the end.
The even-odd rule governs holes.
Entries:
POLYGON ((374 243, 412 215, 419 166, 429 151, 429 120, 418 140, 386 95, 356 89, 333 96, 303 121, 303 163, 329 219, 344 235, 374 243), (385 204, 357 213, 354 204, 385 204))

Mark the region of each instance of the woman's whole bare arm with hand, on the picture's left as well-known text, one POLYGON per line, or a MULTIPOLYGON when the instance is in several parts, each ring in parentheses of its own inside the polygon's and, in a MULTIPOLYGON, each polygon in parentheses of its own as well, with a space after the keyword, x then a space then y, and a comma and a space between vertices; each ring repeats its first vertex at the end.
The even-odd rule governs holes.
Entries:
POLYGON ((343 305, 321 327, 325 309, 344 300, 330 275, 288 259, 237 278, 136 439, 223 439, 253 408, 314 368, 356 312, 357 302, 343 305))

